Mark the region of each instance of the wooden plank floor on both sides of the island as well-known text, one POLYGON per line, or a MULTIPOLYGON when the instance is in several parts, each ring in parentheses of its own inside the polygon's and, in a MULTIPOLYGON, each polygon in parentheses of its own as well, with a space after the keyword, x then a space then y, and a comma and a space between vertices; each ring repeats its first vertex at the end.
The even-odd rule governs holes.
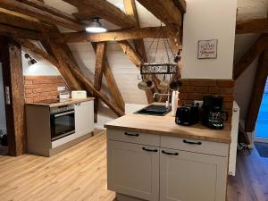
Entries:
MULTIPOLYGON (((113 201, 106 190, 105 130, 51 158, 0 156, 0 201, 113 201)), ((228 201, 268 201, 268 159, 239 153, 228 201)))

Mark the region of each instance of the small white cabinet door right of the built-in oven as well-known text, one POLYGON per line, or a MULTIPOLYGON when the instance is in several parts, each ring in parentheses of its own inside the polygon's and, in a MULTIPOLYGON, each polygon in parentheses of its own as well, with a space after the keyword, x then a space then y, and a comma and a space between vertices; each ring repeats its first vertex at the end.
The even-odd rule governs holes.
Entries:
POLYGON ((77 137, 94 130, 93 103, 93 101, 88 101, 75 105, 75 133, 77 137))

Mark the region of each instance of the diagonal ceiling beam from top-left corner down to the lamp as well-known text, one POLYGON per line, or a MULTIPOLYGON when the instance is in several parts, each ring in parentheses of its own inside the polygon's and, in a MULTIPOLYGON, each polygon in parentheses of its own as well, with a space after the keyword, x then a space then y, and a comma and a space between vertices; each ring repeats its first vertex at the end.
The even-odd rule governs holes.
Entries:
POLYGON ((0 7, 13 11, 13 12, 23 13, 25 15, 29 15, 30 17, 37 18, 40 21, 46 21, 47 23, 59 25, 68 29, 73 29, 73 30, 85 29, 85 26, 80 23, 63 19, 62 17, 59 17, 52 13, 47 13, 46 11, 35 8, 28 4, 23 4, 19 1, 0 0, 0 7))

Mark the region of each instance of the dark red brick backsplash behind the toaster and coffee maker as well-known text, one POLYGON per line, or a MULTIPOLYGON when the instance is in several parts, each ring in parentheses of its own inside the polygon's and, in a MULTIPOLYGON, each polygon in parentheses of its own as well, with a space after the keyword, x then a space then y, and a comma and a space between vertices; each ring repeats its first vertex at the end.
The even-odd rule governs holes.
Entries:
POLYGON ((203 100, 203 96, 216 95, 223 97, 223 111, 229 113, 229 122, 232 115, 234 100, 233 80, 188 80, 182 79, 180 88, 180 104, 190 104, 194 100, 203 100))

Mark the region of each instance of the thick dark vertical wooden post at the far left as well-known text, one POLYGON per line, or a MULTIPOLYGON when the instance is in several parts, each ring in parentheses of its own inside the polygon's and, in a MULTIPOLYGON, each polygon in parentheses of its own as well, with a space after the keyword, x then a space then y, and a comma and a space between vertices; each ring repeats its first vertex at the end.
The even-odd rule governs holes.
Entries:
POLYGON ((0 37, 0 56, 3 66, 8 148, 10 155, 26 152, 24 83, 21 63, 21 45, 12 38, 0 37))

